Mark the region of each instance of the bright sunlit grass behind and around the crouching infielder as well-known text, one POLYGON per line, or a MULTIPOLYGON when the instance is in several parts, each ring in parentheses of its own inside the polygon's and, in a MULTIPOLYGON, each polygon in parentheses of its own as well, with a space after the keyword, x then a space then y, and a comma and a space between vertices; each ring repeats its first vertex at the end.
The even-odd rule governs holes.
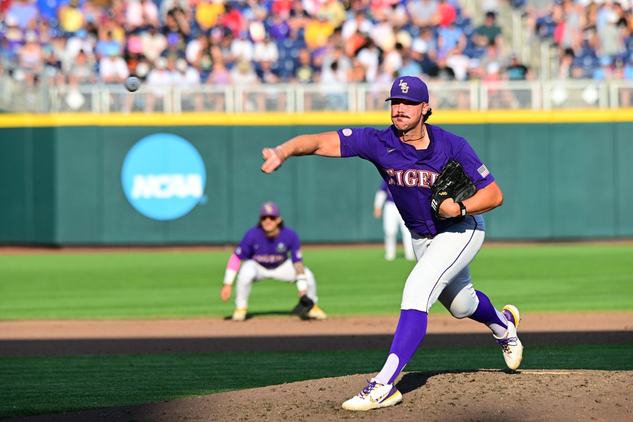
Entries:
MULTIPOLYGON (((219 290, 230 252, 127 252, 0 256, 0 319, 191 318, 226 316, 219 290)), ((396 314, 413 263, 380 249, 308 249, 320 304, 332 316, 396 314)), ((488 247, 471 264, 492 302, 524 311, 633 309, 633 247, 488 247)), ((253 287, 251 313, 286 312, 294 285, 253 287)), ((437 304, 432 312, 446 312, 437 304)))

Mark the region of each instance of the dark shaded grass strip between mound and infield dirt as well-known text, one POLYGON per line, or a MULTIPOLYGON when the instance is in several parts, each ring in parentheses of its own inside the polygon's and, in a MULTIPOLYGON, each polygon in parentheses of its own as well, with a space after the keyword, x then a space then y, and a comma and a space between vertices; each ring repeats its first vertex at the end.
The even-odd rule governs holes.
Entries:
MULTIPOLYGON (((527 346, 521 368, 632 370, 633 362, 620 358, 631 354, 632 344, 527 346)), ((366 350, 3 357, 0 419, 372 373, 386 356, 385 350, 366 350)), ((407 371, 475 368, 505 368, 501 349, 422 349, 406 366, 407 371)))

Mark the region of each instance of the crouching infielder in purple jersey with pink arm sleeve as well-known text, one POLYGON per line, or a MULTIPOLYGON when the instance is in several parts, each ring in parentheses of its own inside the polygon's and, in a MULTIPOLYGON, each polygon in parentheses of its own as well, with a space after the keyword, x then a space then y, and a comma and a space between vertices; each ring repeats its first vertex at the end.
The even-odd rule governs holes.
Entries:
POLYGON ((254 282, 265 278, 296 283, 300 301, 293 313, 315 320, 327 318, 327 314, 316 304, 315 276, 303 266, 299 236, 291 228, 284 227, 279 207, 273 202, 261 206, 260 223, 246 232, 229 258, 220 290, 220 297, 225 302, 231 297, 235 275, 234 321, 246 320, 251 287, 254 282), (288 252, 291 260, 288 259, 288 252))

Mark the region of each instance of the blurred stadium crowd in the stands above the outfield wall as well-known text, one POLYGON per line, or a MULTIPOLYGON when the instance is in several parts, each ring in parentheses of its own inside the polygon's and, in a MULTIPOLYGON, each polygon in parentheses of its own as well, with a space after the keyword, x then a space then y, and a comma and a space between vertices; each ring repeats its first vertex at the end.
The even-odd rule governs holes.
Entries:
MULTIPOLYGON (((0 71, 72 85, 533 78, 504 48, 498 6, 484 1, 475 26, 456 0, 3 0, 0 71)), ((514 6, 560 46, 559 77, 633 78, 629 4, 514 6)))

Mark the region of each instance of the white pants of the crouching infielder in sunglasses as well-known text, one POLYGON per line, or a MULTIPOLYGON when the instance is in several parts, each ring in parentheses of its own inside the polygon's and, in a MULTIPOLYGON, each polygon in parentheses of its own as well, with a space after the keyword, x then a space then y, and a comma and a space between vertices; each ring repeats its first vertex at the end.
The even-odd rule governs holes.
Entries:
MULTIPOLYGON (((308 282, 308 292, 306 295, 315 302, 318 301, 316 296, 316 281, 315 275, 308 269, 303 268, 306 275, 306 282, 308 282)), ((273 278, 281 282, 294 283, 297 280, 297 271, 294 269, 294 265, 290 259, 287 259, 283 264, 277 268, 268 269, 261 266, 254 259, 248 259, 242 262, 242 266, 237 273, 237 283, 235 285, 235 308, 240 309, 242 307, 248 307, 248 297, 251 295, 251 288, 254 282, 264 280, 265 278, 273 278)))

